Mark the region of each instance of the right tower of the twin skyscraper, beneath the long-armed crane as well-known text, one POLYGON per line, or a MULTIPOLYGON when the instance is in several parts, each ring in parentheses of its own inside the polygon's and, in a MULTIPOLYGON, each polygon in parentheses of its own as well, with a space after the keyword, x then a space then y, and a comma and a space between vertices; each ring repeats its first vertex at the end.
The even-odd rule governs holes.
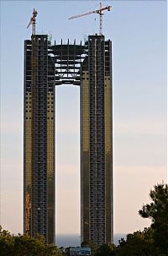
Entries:
POLYGON ((81 65, 81 241, 113 242, 112 45, 89 35, 81 65))

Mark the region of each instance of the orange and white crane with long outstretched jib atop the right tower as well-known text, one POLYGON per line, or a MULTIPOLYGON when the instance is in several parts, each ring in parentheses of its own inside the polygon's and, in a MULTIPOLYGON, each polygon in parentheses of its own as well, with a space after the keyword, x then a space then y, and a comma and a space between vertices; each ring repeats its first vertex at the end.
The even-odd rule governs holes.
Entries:
POLYGON ((112 8, 112 6, 110 6, 110 5, 107 5, 106 7, 102 7, 102 3, 100 3, 98 10, 90 11, 90 12, 85 13, 85 14, 78 14, 78 15, 75 15, 75 16, 71 16, 68 19, 76 19, 76 18, 80 18, 82 16, 86 16, 88 14, 99 14, 99 18, 100 18, 99 35, 102 35, 102 15, 103 15, 102 12, 105 11, 105 10, 111 11, 111 8, 112 8))

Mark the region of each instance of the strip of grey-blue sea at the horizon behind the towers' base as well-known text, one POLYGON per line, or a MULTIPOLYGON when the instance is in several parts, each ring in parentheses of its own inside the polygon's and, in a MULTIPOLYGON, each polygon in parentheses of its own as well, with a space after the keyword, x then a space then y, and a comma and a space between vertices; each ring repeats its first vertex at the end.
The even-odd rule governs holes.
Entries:
MULTIPOLYGON (((125 234, 114 234, 114 244, 118 245, 118 240, 125 238, 125 234)), ((60 247, 77 247, 81 245, 81 237, 79 234, 57 234, 55 238, 56 245, 60 247)))

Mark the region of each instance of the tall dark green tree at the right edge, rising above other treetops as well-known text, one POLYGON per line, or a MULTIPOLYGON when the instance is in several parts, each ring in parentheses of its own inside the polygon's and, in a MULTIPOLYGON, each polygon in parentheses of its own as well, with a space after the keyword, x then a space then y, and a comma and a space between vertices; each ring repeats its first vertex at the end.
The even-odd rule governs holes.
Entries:
POLYGON ((139 215, 150 218, 154 231, 155 249, 159 255, 168 255, 168 186, 161 183, 150 190, 150 204, 145 204, 139 215))

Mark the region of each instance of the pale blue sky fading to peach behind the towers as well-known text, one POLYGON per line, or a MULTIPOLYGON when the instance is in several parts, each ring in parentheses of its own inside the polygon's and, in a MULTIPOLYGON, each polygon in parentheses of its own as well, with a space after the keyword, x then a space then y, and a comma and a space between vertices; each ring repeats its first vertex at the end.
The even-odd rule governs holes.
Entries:
MULTIPOLYGON (((138 210, 166 179, 166 2, 102 1, 113 41, 114 231, 149 226, 138 210)), ((98 31, 98 1, 1 1, 1 225, 23 231, 24 40, 33 8, 38 33, 83 41, 98 31), (96 20, 95 20, 96 18, 96 20)), ((56 89, 57 232, 80 233, 79 87, 56 89)))

